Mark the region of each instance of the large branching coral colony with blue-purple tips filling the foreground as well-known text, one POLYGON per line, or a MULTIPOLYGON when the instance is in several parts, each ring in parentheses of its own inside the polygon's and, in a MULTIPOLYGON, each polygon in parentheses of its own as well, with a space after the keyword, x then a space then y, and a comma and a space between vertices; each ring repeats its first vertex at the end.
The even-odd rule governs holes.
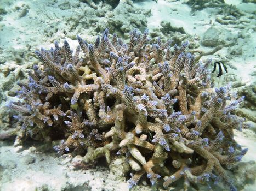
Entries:
POLYGON ((125 44, 106 29, 94 44, 77 36, 75 51, 66 40, 36 51, 42 64, 19 83, 22 102, 9 107, 26 135, 63 139, 59 153, 86 151, 84 163, 125 156, 130 187, 141 177, 164 187, 183 178, 185 189, 223 181, 236 190, 224 168, 247 152, 233 134, 248 127, 234 114, 243 97, 212 88, 211 60, 195 63, 187 42, 149 44, 148 35, 135 29, 125 44))

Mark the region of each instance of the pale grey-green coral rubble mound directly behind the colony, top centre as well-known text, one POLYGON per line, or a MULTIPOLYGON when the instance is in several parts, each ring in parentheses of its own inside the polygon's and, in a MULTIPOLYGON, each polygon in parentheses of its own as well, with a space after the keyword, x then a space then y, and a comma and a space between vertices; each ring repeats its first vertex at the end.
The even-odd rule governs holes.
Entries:
MULTIPOLYGON (((92 9, 86 8, 84 14, 78 14, 74 17, 74 28, 79 26, 83 20, 86 22, 86 28, 89 29, 90 35, 98 35, 105 28, 109 28, 110 33, 116 32, 118 36, 124 39, 129 39, 129 32, 133 28, 138 28, 144 31, 147 27, 147 17, 150 16, 151 11, 144 8, 135 7, 131 0, 121 1, 82 1, 86 2, 92 9), (89 20, 89 22, 88 22, 89 20), (96 33, 95 33, 96 32, 96 33)), ((69 21, 68 21, 69 22, 69 21)), ((81 31, 84 26, 79 26, 81 31)), ((78 31, 78 32, 79 32, 78 31)))

